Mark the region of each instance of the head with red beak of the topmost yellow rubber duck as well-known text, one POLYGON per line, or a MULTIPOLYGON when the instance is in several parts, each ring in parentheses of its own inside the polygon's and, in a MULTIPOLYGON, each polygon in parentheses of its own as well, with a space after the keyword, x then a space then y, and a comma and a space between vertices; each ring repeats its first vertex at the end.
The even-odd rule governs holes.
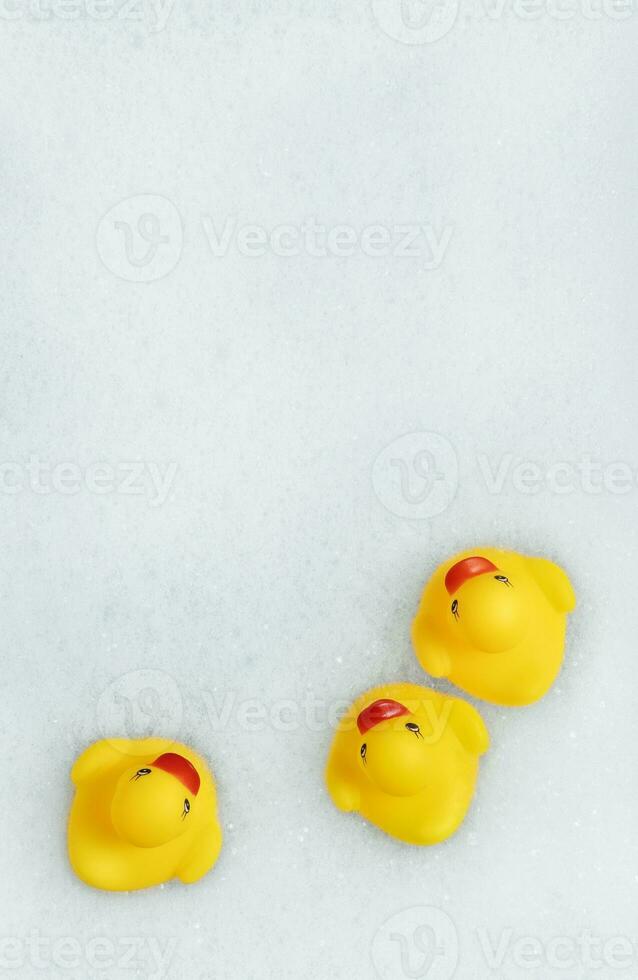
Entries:
POLYGON ((445 576, 445 588, 453 626, 474 649, 500 653, 525 637, 533 609, 526 584, 517 581, 514 588, 488 558, 473 555, 456 562, 445 576))

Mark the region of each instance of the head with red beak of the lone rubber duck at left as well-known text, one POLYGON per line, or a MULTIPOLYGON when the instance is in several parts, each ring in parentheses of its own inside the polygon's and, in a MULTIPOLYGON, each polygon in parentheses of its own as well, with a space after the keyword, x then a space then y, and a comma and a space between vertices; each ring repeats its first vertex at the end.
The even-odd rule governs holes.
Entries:
POLYGON ((125 770, 111 802, 116 833, 136 847, 159 847, 174 840, 192 825, 199 786, 193 764, 175 752, 125 770))

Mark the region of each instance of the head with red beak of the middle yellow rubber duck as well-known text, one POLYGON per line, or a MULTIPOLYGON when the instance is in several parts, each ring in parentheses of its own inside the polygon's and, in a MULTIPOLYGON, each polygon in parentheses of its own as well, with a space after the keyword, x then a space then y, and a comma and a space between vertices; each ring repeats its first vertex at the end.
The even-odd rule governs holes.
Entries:
POLYGON ((427 743, 415 716, 398 701, 380 699, 357 718, 361 765, 388 796, 415 796, 428 782, 427 743))

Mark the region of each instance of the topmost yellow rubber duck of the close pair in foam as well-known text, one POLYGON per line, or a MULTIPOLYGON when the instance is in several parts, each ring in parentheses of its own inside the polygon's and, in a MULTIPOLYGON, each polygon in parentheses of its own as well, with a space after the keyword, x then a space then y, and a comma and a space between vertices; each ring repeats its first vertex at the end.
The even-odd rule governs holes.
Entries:
POLYGON ((426 585, 412 641, 433 677, 494 704, 531 704, 561 668, 575 605, 566 573, 546 558, 464 551, 426 585))

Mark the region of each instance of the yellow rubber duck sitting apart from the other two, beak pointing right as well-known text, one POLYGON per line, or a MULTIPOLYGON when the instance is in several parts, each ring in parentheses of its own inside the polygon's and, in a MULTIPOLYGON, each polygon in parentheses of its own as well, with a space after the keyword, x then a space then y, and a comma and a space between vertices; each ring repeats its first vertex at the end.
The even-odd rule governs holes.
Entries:
POLYGON ((166 739, 95 742, 71 771, 71 866, 94 888, 186 884, 214 865, 222 844, 213 777, 201 756, 166 739))

